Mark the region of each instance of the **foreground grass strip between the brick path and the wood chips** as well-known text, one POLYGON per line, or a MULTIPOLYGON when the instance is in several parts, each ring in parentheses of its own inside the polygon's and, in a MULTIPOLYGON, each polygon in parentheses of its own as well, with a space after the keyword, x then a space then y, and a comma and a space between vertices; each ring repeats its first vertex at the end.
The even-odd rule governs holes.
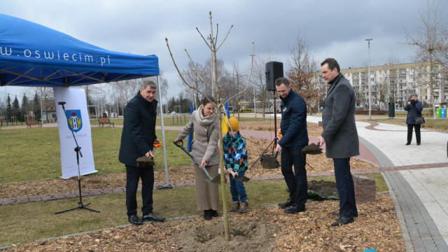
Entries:
MULTIPOLYGON (((381 174, 372 174, 372 177, 377 181, 377 192, 387 190, 381 174)), ((334 181, 334 176, 312 179, 334 181)), ((283 202, 288 198, 286 183, 283 180, 251 181, 245 183, 245 187, 252 209, 283 202)), ((230 206, 229 190, 226 190, 226 195, 230 206)), ((154 190, 154 212, 167 218, 203 214, 196 209, 195 197, 194 186, 154 190)), ((137 199, 141 207, 140 193, 137 199)), ((55 215, 56 211, 77 207, 78 198, 1 206, 0 223, 3 228, 0 229, 0 247, 128 224, 124 193, 83 197, 83 203, 88 202, 91 204, 87 207, 101 213, 76 209, 55 215)), ((139 216, 141 216, 140 210, 139 216)))

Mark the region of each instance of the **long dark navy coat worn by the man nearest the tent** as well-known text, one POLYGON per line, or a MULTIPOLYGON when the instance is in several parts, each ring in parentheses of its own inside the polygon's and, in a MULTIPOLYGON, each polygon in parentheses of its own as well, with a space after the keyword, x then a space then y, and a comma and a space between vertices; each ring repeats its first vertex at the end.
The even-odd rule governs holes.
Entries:
POLYGON ((123 132, 121 133, 118 160, 125 165, 137 167, 137 158, 153 149, 157 100, 148 102, 140 92, 125 106, 123 132))

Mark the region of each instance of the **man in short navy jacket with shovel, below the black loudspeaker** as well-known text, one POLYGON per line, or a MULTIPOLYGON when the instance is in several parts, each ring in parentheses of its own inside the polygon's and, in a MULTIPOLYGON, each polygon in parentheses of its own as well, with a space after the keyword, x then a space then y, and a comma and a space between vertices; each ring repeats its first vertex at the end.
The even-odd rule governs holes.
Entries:
POLYGON ((302 148, 308 145, 307 104, 300 94, 290 88, 287 78, 276 79, 275 88, 281 98, 280 130, 283 135, 276 151, 281 151, 281 174, 289 189, 289 199, 279 203, 279 207, 292 206, 286 209, 285 213, 295 214, 305 211, 308 195, 305 169, 307 156, 302 153, 302 148))

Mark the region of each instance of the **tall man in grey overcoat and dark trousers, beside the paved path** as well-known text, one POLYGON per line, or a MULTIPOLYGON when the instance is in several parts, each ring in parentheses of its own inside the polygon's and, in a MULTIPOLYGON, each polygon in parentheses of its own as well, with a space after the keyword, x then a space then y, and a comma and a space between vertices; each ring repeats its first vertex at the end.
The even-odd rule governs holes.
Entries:
POLYGON ((358 132, 355 123, 356 97, 353 87, 342 73, 336 59, 321 63, 321 73, 330 84, 323 102, 323 132, 318 138, 321 146, 327 145, 325 155, 335 165, 337 191, 339 193, 339 219, 332 226, 345 225, 358 217, 355 188, 350 172, 350 158, 359 155, 358 132))

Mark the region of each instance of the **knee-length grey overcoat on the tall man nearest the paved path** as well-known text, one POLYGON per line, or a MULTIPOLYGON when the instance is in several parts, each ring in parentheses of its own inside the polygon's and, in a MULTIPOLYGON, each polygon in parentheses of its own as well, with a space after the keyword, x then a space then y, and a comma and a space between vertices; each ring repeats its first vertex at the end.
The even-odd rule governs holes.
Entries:
POLYGON ((323 102, 321 136, 327 158, 351 158, 359 155, 355 122, 356 95, 342 73, 335 78, 323 102))

